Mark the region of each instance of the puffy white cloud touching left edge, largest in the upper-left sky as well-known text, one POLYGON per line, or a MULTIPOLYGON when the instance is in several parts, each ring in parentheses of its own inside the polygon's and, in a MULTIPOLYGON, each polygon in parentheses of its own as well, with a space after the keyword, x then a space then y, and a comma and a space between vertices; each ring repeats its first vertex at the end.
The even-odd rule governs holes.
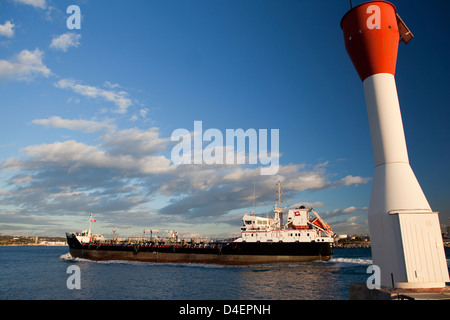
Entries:
POLYGON ((42 62, 43 52, 22 50, 10 60, 0 60, 0 78, 29 81, 37 76, 48 77, 51 71, 42 62))

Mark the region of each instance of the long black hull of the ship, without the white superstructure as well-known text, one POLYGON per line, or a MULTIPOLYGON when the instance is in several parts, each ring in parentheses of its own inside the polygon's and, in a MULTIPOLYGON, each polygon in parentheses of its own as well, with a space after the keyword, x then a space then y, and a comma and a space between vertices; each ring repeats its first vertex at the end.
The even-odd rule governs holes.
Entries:
POLYGON ((224 242, 208 245, 81 244, 75 234, 67 233, 66 235, 72 257, 95 261, 129 260, 247 265, 327 261, 333 255, 333 245, 329 242, 224 242))

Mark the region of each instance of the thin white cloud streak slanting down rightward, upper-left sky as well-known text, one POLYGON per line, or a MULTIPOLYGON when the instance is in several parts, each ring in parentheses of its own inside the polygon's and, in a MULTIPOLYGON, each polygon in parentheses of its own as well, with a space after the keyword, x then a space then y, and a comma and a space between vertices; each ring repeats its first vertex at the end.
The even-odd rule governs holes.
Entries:
POLYGON ((131 99, 128 98, 128 93, 123 90, 105 90, 94 86, 80 84, 73 79, 61 79, 55 83, 55 86, 61 89, 70 89, 73 92, 88 98, 103 99, 112 102, 118 107, 115 112, 121 114, 125 113, 128 107, 133 104, 131 99))

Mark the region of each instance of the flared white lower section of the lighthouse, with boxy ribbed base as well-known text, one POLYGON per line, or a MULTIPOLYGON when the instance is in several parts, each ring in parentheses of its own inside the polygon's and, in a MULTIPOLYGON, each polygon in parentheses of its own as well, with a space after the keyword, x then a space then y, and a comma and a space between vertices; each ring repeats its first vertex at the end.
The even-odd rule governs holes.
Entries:
POLYGON ((382 287, 444 288, 450 281, 438 214, 409 163, 375 168, 368 218, 382 287))

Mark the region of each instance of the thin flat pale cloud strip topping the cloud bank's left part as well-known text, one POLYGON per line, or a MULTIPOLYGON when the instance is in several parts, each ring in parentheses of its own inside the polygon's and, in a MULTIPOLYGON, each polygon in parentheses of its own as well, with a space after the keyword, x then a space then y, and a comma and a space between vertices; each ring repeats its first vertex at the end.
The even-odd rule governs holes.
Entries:
POLYGON ((115 125, 110 121, 91 121, 91 120, 68 120, 54 116, 48 119, 36 119, 32 121, 48 128, 65 128, 74 131, 82 131, 86 133, 99 132, 103 130, 114 130, 115 125))

